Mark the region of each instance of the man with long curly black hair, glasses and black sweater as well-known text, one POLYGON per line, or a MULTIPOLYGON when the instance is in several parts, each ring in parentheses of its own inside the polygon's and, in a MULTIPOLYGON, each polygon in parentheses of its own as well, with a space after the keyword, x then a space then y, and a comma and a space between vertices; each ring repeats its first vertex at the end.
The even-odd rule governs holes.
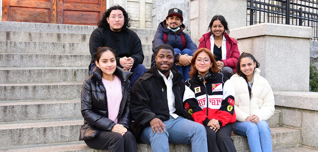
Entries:
POLYGON ((142 65, 144 55, 142 45, 137 34, 129 30, 131 19, 128 13, 119 5, 106 10, 89 39, 89 51, 92 56, 89 65, 89 75, 95 66, 96 52, 99 47, 110 47, 115 50, 116 63, 124 70, 130 70, 133 74, 129 77, 131 88, 135 81, 147 71, 142 65))

